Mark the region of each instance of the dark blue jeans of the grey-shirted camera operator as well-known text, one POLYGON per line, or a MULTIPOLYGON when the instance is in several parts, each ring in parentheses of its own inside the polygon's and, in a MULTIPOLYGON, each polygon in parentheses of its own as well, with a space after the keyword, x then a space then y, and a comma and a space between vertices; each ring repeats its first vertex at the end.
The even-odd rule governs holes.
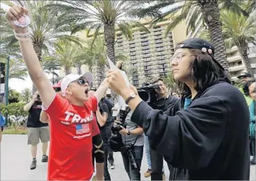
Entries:
POLYGON ((140 180, 140 166, 143 158, 143 146, 134 146, 133 151, 138 168, 134 170, 131 168, 127 151, 121 152, 123 156, 123 166, 126 169, 126 173, 128 174, 130 180, 140 180))

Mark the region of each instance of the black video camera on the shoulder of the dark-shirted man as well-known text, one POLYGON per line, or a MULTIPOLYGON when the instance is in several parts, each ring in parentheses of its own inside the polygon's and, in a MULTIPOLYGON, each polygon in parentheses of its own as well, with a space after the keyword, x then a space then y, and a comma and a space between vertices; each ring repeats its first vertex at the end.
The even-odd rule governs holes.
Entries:
POLYGON ((142 87, 139 87, 137 90, 140 98, 149 103, 157 99, 155 89, 159 89, 159 85, 152 85, 148 82, 144 82, 142 87))

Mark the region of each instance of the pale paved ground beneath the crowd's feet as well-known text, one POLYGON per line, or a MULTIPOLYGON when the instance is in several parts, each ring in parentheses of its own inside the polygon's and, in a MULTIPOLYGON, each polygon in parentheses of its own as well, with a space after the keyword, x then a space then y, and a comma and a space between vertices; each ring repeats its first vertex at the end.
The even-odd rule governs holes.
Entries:
MULTIPOLYGON (((30 170, 30 146, 27 145, 27 135, 3 135, 1 142, 1 180, 46 180, 47 163, 41 162, 41 144, 37 150, 37 168, 30 170)), ((123 159, 120 153, 114 153, 114 170, 109 170, 111 180, 129 180, 123 167, 123 159)), ((166 163, 164 164, 166 180, 169 178, 169 171, 166 163)), ((145 154, 142 161, 142 180, 145 178, 144 172, 147 170, 145 154)), ((255 179, 255 166, 251 166, 250 180, 255 179)))

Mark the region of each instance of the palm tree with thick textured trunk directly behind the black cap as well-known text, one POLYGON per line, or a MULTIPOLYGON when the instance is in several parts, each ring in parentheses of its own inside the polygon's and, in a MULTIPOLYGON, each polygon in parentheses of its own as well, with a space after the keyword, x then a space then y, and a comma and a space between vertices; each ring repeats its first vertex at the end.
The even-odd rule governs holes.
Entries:
MULTIPOLYGON (((250 0, 252 1, 252 0, 250 0)), ((152 2, 152 1, 151 1, 152 2)), ((228 72, 228 61, 226 59, 226 51, 224 46, 224 39, 221 32, 220 9, 229 9, 235 13, 243 13, 248 15, 243 8, 240 7, 241 1, 238 0, 185 0, 185 1, 153 1, 151 6, 141 8, 138 11, 140 17, 150 16, 154 17, 152 25, 158 23, 166 18, 171 18, 172 22, 166 29, 166 35, 173 30, 176 25, 185 20, 190 13, 190 20, 188 28, 195 30, 195 23, 197 18, 202 13, 202 18, 209 30, 211 42, 215 46, 215 58, 228 72), (166 12, 162 13, 161 10, 166 8, 166 12), (179 12, 181 11, 181 13, 179 12)))

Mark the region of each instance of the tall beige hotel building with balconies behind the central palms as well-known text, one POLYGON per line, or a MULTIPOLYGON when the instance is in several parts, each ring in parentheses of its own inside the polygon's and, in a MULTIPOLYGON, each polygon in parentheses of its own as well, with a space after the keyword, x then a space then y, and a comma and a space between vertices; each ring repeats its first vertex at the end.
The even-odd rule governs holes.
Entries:
MULTIPOLYGON (((150 19, 142 19, 140 23, 150 27, 150 19)), ((126 73, 131 84, 140 87, 143 82, 149 82, 154 77, 166 77, 170 72, 170 58, 174 53, 175 46, 186 38, 185 22, 179 24, 166 37, 166 27, 170 20, 164 20, 150 28, 150 33, 142 32, 138 28, 133 29, 133 39, 126 39, 116 30, 116 48, 126 52, 128 60, 124 62, 126 73)), ((86 39, 85 32, 79 32, 78 37, 86 39)), ((87 66, 82 67, 82 72, 87 71, 87 66)), ((108 68, 105 66, 105 73, 108 68)), ((73 68, 72 72, 76 72, 73 68)), ((93 87, 98 87, 102 80, 102 72, 97 65, 92 67, 93 87)), ((60 76, 63 76, 63 70, 60 76)))

